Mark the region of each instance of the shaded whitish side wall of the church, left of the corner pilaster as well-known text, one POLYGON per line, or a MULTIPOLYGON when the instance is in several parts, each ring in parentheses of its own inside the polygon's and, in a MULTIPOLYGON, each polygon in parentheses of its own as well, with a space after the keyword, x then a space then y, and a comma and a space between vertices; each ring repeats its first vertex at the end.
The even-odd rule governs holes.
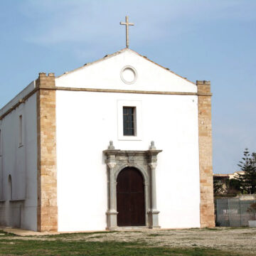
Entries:
MULTIPOLYGON (((32 90, 33 83, 26 87, 32 90)), ((21 92, 22 94, 23 92, 21 92)), ((22 97, 23 95, 20 96, 22 97)), ((16 103, 18 96, 11 102, 16 103)), ((11 102, 9 104, 11 104, 11 102)), ((6 111, 6 107, 1 113, 6 111)), ((37 122, 36 94, 1 120, 1 198, 5 203, 0 207, 5 215, 0 215, 0 223, 21 225, 21 228, 36 230, 37 207, 37 122), (18 121, 23 117, 23 144, 18 144, 18 121), (9 202, 8 177, 12 178, 12 199, 25 201, 9 202)))

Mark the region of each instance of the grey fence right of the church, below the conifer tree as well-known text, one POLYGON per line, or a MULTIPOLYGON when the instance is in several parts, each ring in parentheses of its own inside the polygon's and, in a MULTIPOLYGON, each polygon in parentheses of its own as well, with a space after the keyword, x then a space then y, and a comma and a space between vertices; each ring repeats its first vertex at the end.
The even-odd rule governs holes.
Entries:
POLYGON ((255 220, 255 213, 250 211, 256 200, 240 198, 216 199, 216 225, 220 227, 247 227, 249 220, 255 220))

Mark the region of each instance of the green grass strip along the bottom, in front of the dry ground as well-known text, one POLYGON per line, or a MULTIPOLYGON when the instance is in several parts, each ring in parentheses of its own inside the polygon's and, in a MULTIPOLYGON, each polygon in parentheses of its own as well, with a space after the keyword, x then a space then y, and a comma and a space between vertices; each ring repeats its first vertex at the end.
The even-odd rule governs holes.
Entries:
POLYGON ((0 255, 90 255, 90 256, 239 256, 201 247, 151 247, 139 242, 84 242, 57 240, 0 240, 0 255))

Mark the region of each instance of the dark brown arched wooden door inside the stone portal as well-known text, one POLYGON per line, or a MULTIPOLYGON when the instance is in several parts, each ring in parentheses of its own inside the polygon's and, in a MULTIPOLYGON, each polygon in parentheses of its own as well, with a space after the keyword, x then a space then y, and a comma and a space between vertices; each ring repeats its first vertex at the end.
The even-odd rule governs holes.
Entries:
POLYGON ((144 179, 135 168, 124 168, 117 176, 117 225, 145 225, 144 179))

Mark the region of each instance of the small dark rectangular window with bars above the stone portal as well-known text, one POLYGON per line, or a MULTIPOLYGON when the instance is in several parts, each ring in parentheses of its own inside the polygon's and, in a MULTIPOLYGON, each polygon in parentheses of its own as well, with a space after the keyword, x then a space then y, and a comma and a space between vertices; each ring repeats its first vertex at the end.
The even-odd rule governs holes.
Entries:
POLYGON ((136 107, 123 107, 124 136, 134 136, 136 133, 136 107))

